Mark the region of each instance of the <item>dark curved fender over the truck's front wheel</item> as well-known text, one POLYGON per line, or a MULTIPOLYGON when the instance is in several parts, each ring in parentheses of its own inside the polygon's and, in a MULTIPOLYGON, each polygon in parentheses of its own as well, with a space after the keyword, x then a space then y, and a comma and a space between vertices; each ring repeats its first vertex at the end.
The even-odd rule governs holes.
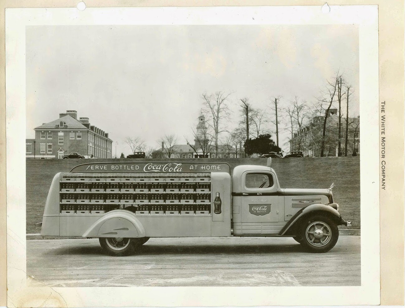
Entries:
POLYGON ((311 204, 299 210, 288 223, 281 229, 279 235, 296 235, 296 227, 299 226, 299 221, 305 217, 313 215, 323 215, 332 219, 337 225, 342 224, 342 217, 339 212, 330 205, 311 204))

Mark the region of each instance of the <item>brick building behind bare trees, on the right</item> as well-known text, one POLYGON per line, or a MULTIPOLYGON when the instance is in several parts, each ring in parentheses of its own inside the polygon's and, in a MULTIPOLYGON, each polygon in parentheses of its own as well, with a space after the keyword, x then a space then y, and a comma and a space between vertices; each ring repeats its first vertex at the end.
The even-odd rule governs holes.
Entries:
MULTIPOLYGON (((347 156, 353 151, 360 153, 360 116, 349 117, 347 131, 347 156)), ((304 156, 320 156, 324 116, 315 116, 313 121, 294 133, 290 140, 290 151, 303 151, 304 156)), ((341 118, 341 156, 345 156, 346 118, 341 118)), ((326 119, 324 139, 324 156, 338 156, 339 114, 337 109, 330 109, 326 119)))

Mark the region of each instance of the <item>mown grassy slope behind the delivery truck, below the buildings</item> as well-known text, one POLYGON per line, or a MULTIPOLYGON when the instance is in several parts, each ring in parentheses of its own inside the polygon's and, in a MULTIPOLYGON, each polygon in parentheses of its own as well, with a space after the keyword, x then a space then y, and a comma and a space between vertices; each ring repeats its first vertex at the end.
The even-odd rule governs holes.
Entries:
MULTIPOLYGON (((162 159, 153 159, 162 161, 162 159)), ((153 161, 148 160, 148 161, 153 161)), ((42 221, 45 201, 53 176, 61 171, 86 162, 128 162, 142 159, 54 159, 26 160, 26 213, 27 233, 38 233, 34 224, 42 221)), ((168 160, 165 160, 168 161, 168 160)), ((266 165, 266 159, 176 159, 173 161, 216 161, 237 165, 266 165)), ((277 173, 281 188, 333 188, 333 198, 339 204, 343 219, 352 220, 353 229, 360 229, 360 159, 359 157, 339 158, 274 158, 272 167, 277 173)), ((340 226, 339 228, 346 228, 340 226)))

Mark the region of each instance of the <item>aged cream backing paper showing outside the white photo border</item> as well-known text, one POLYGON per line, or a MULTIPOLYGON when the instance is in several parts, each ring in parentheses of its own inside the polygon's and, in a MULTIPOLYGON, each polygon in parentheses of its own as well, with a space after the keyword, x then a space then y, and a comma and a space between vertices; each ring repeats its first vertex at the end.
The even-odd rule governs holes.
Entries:
MULTIPOLYGON (((5 1, 2 3, 2 20, 1 52, 2 63, 5 61, 4 54, 4 8, 6 7, 74 7, 77 1, 5 1)), ((149 1, 140 2, 134 5, 129 1, 86 1, 87 6, 207 6, 203 1, 149 1), (113 5, 112 5, 113 4, 113 5)), ((318 1, 251 1, 249 5, 322 5, 318 1)), ((329 4, 333 5, 334 3, 329 4)), ((387 118, 390 119, 391 127, 389 133, 395 133, 395 139, 399 140, 395 145, 387 145, 387 152, 390 153, 390 168, 387 173, 390 174, 389 193, 381 193, 381 304, 382 305, 401 305, 403 304, 403 95, 404 95, 404 61, 403 61, 403 3, 397 1, 340 1, 339 4, 378 4, 379 5, 379 62, 380 62, 380 101, 390 103, 386 112, 387 118), (396 123, 392 126, 392 123, 396 123), (395 151, 395 152, 394 152, 395 151), (395 178, 395 182, 394 182, 395 178), (392 226, 395 226, 396 236, 390 236, 392 226), (402 235, 402 236, 400 236, 402 235), (394 248, 396 248, 394 250, 394 248)), ((245 5, 243 1, 212 1, 210 5, 245 5)), ((2 68, 2 84, 5 84, 4 68, 2 68)), ((5 88, 2 86, 0 91, 2 104, 1 111, 5 114, 5 88)), ((5 145, 5 118, 2 117, 0 142, 5 145)), ((5 146, 2 146, 0 152, 0 196, 3 204, 6 199, 5 183, 5 146)), ((6 234, 6 208, 0 208, 0 230, 6 234)), ((0 245, 6 247, 6 237, 2 236, 0 245)), ((6 254, 0 257, 0 272, 6 273, 6 254)), ((0 280, 0 305, 6 305, 6 275, 0 280)))

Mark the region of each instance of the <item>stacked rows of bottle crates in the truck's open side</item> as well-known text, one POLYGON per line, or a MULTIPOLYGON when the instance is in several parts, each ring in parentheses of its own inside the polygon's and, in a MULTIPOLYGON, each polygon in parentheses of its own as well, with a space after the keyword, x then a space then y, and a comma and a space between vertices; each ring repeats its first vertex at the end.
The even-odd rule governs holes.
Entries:
POLYGON ((211 215, 211 184, 203 178, 105 179, 60 181, 61 214, 102 215, 127 209, 136 215, 211 215), (125 180, 125 181, 124 181, 125 180))

